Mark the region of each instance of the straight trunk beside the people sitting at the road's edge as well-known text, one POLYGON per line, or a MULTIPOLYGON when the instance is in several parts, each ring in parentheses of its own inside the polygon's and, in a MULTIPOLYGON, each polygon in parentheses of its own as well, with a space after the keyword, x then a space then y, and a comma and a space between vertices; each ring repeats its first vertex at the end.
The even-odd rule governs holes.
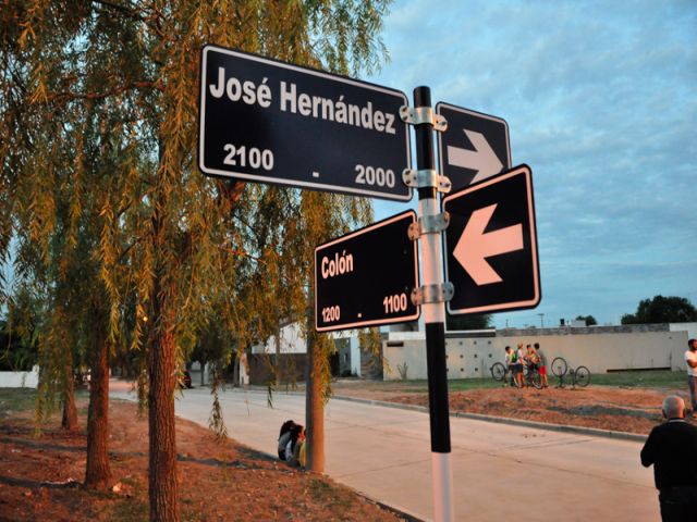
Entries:
POLYGON ((305 391, 305 433, 307 436, 307 469, 325 472, 325 403, 322 402, 321 355, 315 343, 311 311, 307 314, 307 389, 305 391))

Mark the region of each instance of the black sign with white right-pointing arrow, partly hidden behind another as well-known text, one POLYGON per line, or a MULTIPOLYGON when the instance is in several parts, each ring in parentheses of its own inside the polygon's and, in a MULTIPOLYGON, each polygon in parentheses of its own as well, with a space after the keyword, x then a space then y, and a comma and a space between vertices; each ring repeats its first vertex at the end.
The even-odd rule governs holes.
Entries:
POLYGON ((448 121, 448 129, 438 133, 438 154, 453 191, 511 169, 505 120, 443 102, 436 112, 448 121))

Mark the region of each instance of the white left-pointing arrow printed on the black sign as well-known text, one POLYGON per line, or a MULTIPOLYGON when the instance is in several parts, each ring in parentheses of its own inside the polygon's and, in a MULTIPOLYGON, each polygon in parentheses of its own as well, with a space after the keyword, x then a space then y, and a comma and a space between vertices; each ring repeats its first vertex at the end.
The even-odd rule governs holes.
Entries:
POLYGON ((523 249, 523 225, 484 233, 497 207, 491 204, 474 211, 453 250, 453 256, 477 286, 503 281, 487 258, 523 249))

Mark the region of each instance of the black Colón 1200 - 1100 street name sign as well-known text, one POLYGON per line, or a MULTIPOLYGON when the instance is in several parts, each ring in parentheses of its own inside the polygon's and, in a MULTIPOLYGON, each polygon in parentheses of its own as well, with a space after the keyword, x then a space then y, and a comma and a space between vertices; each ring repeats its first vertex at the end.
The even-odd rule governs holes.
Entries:
POLYGON ((414 211, 374 223, 315 249, 315 326, 318 332, 415 321, 418 286, 414 211))

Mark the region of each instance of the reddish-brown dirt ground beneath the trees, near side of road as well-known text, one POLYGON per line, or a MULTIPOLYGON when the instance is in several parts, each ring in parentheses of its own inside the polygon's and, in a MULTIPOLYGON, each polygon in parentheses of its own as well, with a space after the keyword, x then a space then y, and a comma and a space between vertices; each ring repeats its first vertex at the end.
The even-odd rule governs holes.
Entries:
MULTIPOLYGON (((78 403, 83 410, 86 401, 78 403)), ((113 480, 107 493, 82 488, 86 438, 54 418, 34 436, 30 413, 0 415, 0 521, 148 520, 147 419, 131 402, 110 405, 113 480)), ((81 425, 85 425, 84 415, 81 425)), ((329 478, 291 469, 178 419, 182 520, 395 521, 394 513, 329 478)))

